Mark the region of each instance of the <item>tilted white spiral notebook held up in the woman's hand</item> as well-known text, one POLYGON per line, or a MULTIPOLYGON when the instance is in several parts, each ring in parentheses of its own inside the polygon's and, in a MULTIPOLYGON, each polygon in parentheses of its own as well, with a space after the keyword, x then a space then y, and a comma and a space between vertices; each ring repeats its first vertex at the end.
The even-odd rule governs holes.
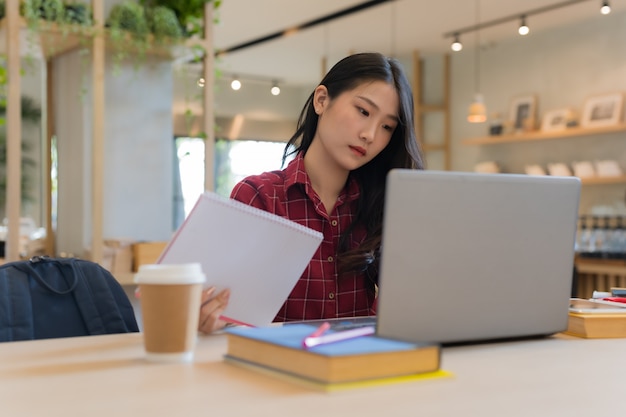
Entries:
POLYGON ((321 233, 301 224, 207 191, 157 263, 199 262, 207 287, 231 290, 224 319, 266 326, 322 238, 321 233))

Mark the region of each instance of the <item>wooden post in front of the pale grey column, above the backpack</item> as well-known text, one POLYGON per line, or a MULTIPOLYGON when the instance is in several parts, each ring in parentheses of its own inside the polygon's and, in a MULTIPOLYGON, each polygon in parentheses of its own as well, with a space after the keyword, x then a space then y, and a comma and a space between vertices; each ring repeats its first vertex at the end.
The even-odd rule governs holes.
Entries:
POLYGON ((92 0, 96 36, 92 50, 93 126, 91 165, 91 260, 101 263, 103 240, 104 172, 104 2, 92 0))

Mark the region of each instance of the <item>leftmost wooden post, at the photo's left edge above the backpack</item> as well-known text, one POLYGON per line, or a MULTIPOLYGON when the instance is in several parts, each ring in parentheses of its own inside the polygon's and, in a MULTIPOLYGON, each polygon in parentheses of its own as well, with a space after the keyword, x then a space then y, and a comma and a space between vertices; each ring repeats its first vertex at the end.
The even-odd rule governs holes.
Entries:
POLYGON ((5 241, 6 261, 20 259, 20 216, 22 201, 22 102, 20 74, 19 2, 5 3, 7 22, 7 188, 6 214, 9 221, 5 241))

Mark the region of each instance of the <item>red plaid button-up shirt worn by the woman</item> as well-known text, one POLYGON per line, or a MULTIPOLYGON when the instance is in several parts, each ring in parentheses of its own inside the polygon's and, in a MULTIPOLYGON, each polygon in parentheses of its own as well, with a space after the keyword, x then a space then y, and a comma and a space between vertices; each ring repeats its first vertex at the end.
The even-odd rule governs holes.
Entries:
MULTIPOLYGON (((324 240, 296 283, 274 321, 315 320, 375 314, 374 297, 366 290, 365 274, 347 274, 338 279, 337 250, 341 233, 352 222, 358 204, 359 188, 348 182, 333 211, 324 205, 311 186, 302 156, 282 171, 253 175, 238 183, 231 198, 288 218, 317 230, 324 240)), ((356 228, 350 247, 365 238, 365 229, 356 228)))

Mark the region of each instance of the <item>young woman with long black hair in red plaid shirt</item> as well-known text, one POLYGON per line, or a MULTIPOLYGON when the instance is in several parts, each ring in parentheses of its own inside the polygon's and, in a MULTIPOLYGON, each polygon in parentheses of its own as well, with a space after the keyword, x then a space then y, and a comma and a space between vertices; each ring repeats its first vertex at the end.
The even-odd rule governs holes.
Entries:
MULTIPOLYGON (((245 178, 231 193, 324 235, 275 321, 375 314, 386 176, 423 168, 400 64, 378 53, 339 61, 307 99, 283 162, 291 154, 282 171, 245 178)), ((199 330, 224 326, 229 294, 203 294, 199 330)))

